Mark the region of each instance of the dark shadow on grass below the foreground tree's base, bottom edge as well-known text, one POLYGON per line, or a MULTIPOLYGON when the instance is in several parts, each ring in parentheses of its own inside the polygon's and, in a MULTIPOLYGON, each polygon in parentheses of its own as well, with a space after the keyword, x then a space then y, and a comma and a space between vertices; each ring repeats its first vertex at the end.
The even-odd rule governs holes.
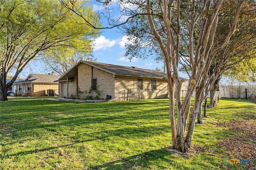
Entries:
MULTIPOLYGON (((125 169, 177 169, 177 170, 196 170, 196 169, 215 169, 207 161, 200 160, 196 155, 190 155, 190 158, 183 157, 180 154, 161 148, 142 152, 126 158, 118 158, 106 164, 91 166, 90 169, 104 170, 125 170, 125 169), (198 160, 196 160, 198 159, 198 160)), ((202 154, 206 160, 212 159, 208 154, 202 154)))

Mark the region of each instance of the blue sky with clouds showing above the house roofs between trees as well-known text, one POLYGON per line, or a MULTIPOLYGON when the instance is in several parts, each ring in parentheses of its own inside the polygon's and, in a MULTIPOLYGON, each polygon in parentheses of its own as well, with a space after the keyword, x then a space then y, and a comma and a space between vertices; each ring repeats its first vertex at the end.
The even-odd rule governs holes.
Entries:
MULTIPOLYGON (((114 4, 114 3, 113 3, 114 4)), ((104 7, 102 4, 93 4, 94 11, 104 11, 104 7)), ((112 12, 113 16, 118 16, 118 12, 112 12)), ((105 22, 106 23, 106 22, 105 22)), ((103 21, 103 25, 106 24, 103 21)), ((121 34, 117 28, 112 29, 104 29, 102 30, 102 34, 100 37, 96 38, 95 46, 94 46, 94 58, 96 58, 97 62, 101 63, 109 63, 116 65, 124 65, 124 66, 135 66, 138 68, 144 69, 159 69, 163 70, 164 63, 157 63, 152 56, 152 58, 141 59, 141 58, 132 58, 131 60, 128 57, 125 57, 124 54, 126 52, 125 43, 128 40, 124 34, 121 34)), ((20 73, 20 78, 26 78, 30 73, 37 74, 46 74, 48 73, 44 68, 43 64, 40 62, 30 63, 26 69, 20 73)), ((13 75, 14 73, 10 73, 9 75, 13 75)), ((180 74, 180 77, 187 76, 183 73, 180 74)))

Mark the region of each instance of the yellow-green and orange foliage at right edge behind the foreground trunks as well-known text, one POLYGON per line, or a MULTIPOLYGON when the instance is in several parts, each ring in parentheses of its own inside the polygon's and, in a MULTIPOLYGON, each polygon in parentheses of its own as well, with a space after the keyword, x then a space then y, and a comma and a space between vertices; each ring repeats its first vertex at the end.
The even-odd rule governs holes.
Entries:
MULTIPOLYGON (((234 6, 230 6, 230 1, 224 2, 222 13, 220 14, 221 26, 217 28, 215 33, 214 45, 218 44, 228 32, 230 27, 230 11, 234 10, 234 6), (229 7, 225 8, 225 6, 229 7), (233 9, 232 9, 233 8, 233 9), (232 10, 231 10, 232 9, 232 10), (227 17, 228 16, 228 17, 227 17)), ((218 102, 214 99, 214 94, 219 91, 219 82, 222 75, 227 72, 239 68, 237 76, 241 82, 250 81, 255 76, 254 58, 256 56, 256 16, 255 16, 255 1, 245 1, 240 10, 239 21, 236 31, 232 34, 228 44, 216 53, 212 61, 212 65, 208 70, 206 93, 204 94, 204 117, 206 117, 207 94, 210 92, 210 106, 218 102), (249 64, 250 63, 250 64, 249 64), (210 88, 208 88, 208 86, 210 88)), ((235 76, 235 75, 234 75, 235 76)), ((217 93, 218 94, 218 93, 217 93)), ((203 123, 202 112, 198 113, 198 123, 203 123)))

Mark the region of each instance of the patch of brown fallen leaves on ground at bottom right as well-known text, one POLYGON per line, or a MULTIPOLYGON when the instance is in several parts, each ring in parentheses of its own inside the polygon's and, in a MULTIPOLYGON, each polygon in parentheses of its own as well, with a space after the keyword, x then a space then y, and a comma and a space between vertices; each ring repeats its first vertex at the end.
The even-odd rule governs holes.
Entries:
POLYGON ((227 158, 250 159, 250 164, 241 164, 248 170, 256 170, 256 121, 232 121, 221 123, 234 134, 218 143, 225 150, 227 158))

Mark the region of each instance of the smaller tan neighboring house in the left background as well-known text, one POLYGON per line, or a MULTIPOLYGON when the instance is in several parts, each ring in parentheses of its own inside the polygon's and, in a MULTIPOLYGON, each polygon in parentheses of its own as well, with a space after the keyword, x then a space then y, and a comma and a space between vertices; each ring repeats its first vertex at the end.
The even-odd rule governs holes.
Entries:
POLYGON ((59 75, 30 74, 24 81, 13 83, 12 91, 17 96, 55 96, 58 95, 59 75))

